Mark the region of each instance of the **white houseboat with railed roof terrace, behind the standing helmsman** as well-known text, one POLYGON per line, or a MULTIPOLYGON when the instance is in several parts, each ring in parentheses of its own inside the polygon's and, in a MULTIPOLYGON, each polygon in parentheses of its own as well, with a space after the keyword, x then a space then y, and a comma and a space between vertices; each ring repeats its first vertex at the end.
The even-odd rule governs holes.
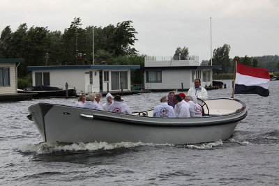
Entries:
POLYGON ((199 64, 199 56, 173 59, 165 56, 146 56, 144 59, 144 89, 169 91, 188 90, 195 79, 201 79, 202 87, 212 85, 212 69, 220 66, 199 64))

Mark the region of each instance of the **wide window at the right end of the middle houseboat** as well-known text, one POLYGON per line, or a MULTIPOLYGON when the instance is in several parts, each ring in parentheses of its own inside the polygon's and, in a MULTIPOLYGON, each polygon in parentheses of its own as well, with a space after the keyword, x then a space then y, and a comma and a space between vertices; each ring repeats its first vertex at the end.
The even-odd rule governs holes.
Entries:
POLYGON ((112 71, 112 90, 128 89, 128 72, 112 71))

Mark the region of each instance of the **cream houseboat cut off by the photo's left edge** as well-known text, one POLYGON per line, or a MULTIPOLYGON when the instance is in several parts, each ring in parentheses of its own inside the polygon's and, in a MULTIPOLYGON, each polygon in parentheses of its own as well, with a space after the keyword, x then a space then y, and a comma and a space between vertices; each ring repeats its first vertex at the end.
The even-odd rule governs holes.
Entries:
POLYGON ((17 66, 24 59, 0 59, 0 95, 17 94, 17 66))

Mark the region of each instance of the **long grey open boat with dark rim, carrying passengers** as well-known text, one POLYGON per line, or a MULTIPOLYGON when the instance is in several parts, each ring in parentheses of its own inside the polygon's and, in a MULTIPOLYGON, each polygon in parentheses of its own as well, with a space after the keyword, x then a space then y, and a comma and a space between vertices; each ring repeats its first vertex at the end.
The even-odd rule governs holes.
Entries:
POLYGON ((153 118, 153 111, 128 115, 38 103, 29 107, 29 119, 45 142, 199 144, 229 139, 247 115, 246 104, 240 100, 206 100, 202 107, 201 118, 153 118))

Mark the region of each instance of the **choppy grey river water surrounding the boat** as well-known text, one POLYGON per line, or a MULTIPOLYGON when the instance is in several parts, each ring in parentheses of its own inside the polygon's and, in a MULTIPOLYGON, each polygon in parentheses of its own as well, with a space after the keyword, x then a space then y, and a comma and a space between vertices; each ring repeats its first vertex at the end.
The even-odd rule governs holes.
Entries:
MULTIPOLYGON (((227 88, 210 98, 232 95, 227 88)), ((269 97, 235 95, 248 116, 231 139, 213 143, 47 144, 27 119, 38 102, 73 105, 76 99, 0 103, 0 185, 278 185, 279 81, 269 97)), ((123 96, 132 111, 155 107, 166 92, 123 96)), ((105 98, 101 99, 104 102, 105 98)))

